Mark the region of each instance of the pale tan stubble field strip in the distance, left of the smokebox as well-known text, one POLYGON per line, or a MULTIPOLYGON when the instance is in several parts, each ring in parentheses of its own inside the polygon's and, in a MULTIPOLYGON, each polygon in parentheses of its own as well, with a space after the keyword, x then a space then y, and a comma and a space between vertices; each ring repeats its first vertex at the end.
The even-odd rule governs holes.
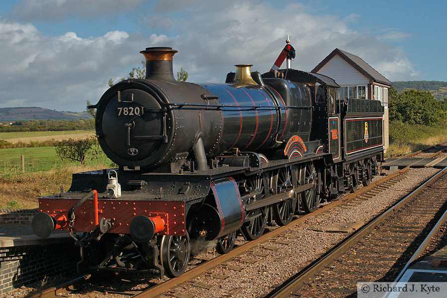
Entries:
POLYGON ((5 140, 10 143, 17 143, 19 141, 45 141, 45 140, 63 140, 63 139, 79 139, 88 135, 94 135, 94 130, 89 131, 56 131, 56 132, 10 132, 0 133, 0 140, 5 140))

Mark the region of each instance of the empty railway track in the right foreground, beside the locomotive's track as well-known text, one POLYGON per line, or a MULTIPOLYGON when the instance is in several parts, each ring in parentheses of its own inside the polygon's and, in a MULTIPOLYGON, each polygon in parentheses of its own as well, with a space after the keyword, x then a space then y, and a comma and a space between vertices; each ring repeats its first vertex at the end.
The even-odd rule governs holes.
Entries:
POLYGON ((357 292, 357 282, 399 278, 424 251, 429 243, 425 237, 445 216, 446 185, 447 168, 268 297, 346 297, 357 292))

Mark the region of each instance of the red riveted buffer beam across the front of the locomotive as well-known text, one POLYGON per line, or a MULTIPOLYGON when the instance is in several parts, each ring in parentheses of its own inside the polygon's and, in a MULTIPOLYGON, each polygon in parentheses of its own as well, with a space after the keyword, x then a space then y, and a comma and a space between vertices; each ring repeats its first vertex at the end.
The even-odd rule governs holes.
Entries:
MULTIPOLYGON (((49 215, 66 215, 78 199, 47 199, 39 200, 40 211, 49 215)), ((185 204, 172 201, 125 201, 116 199, 99 199, 99 219, 111 220, 112 227, 108 232, 129 234, 129 224, 136 216, 161 217, 165 226, 159 235, 185 235, 185 204)), ((74 212, 73 231, 89 232, 94 226, 93 199, 87 200, 74 212)), ((70 230, 67 224, 63 230, 70 230)))

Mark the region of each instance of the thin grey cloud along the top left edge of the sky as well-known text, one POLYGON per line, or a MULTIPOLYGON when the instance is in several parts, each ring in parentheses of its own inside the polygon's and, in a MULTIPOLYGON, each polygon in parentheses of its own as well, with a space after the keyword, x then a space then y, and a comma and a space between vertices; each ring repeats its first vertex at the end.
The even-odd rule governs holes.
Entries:
POLYGON ((60 21, 67 16, 98 17, 123 13, 145 0, 21 0, 10 16, 21 21, 60 21))

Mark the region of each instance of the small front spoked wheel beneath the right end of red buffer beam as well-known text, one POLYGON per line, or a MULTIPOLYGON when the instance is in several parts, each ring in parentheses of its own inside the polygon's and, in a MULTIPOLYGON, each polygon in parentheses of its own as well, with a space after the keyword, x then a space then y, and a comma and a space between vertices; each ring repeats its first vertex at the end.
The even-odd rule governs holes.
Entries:
POLYGON ((182 275, 191 253, 188 232, 184 236, 163 235, 160 247, 164 273, 171 278, 182 275))

